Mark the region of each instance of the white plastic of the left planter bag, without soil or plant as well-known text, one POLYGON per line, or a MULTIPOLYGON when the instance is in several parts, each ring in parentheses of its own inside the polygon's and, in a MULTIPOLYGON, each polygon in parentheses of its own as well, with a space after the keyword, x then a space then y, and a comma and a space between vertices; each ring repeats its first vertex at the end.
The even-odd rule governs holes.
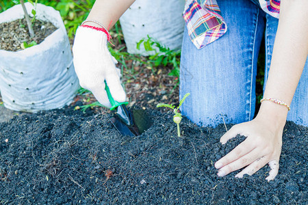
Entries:
MULTIPOLYGON (((25 6, 30 13, 32 5, 25 6)), ((0 92, 8 109, 36 112, 64 107, 79 88, 60 12, 38 3, 36 14, 37 19, 49 21, 58 29, 23 51, 0 50, 0 92)), ((0 23, 23 17, 21 5, 15 5, 0 14, 0 23)))

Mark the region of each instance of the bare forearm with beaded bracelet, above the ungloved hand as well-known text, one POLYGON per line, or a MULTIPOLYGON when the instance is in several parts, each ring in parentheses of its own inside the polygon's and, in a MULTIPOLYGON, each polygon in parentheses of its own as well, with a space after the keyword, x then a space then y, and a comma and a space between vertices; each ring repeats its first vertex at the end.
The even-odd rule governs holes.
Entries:
MULTIPOLYGON (((307 8, 307 0, 281 0, 279 26, 264 98, 277 98, 288 105, 292 102, 308 54, 307 8)), ((286 107, 269 101, 262 102, 260 112, 277 115, 282 121, 287 116, 286 107)))

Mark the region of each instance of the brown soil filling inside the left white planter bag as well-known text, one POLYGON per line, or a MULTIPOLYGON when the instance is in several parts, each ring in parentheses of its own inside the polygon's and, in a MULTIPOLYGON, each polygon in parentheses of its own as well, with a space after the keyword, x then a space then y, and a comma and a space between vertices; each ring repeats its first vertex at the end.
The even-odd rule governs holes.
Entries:
POLYGON ((0 24, 0 49, 5 51, 21 51, 21 44, 35 41, 40 44, 53 31, 57 30, 50 22, 36 19, 33 23, 34 38, 30 38, 25 18, 0 24))

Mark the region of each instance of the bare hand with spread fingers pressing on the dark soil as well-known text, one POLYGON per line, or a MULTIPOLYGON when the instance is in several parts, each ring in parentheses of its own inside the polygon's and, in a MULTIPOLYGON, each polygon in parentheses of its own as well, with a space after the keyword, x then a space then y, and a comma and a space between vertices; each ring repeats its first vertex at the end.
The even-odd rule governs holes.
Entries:
POLYGON ((233 126, 220 138, 222 144, 238 134, 247 138, 215 163, 216 169, 219 169, 218 176, 225 176, 242 167, 246 168, 235 177, 242 178, 244 174, 251 176, 268 163, 271 170, 266 180, 273 180, 279 170, 282 133, 283 126, 275 128, 264 118, 233 126))

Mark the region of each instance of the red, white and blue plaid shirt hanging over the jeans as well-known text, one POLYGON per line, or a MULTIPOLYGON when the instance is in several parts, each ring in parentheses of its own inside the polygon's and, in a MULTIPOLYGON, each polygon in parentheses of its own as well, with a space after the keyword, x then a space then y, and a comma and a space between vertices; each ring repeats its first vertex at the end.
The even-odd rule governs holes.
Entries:
MULTIPOLYGON (((259 0, 259 3, 265 12, 279 18, 280 0, 259 0)), ((216 0, 188 0, 183 18, 197 49, 214 42, 227 31, 216 0)))

